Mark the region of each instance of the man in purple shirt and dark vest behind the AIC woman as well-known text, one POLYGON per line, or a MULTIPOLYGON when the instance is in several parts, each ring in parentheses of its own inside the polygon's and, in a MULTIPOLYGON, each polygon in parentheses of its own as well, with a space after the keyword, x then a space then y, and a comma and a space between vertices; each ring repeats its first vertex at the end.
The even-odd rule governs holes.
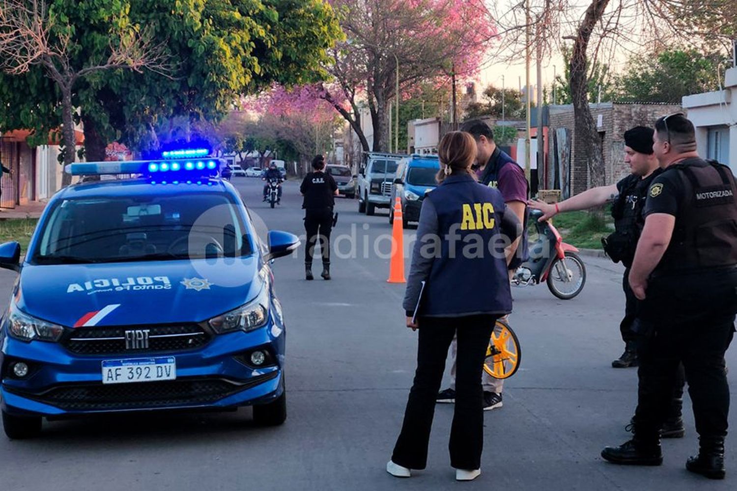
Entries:
MULTIPOLYGON (((514 214, 523 227, 520 239, 514 241, 509 248, 507 257, 507 268, 509 276, 514 275, 514 270, 528 259, 527 244, 527 200, 529 198, 529 184, 525 178, 525 172, 506 152, 503 152, 494 141, 494 132, 481 119, 466 121, 461 126, 461 131, 471 133, 476 140, 476 175, 478 182, 499 189, 506 205, 514 214)), ((455 402, 455 339, 450 345, 450 387, 441 390, 436 402, 455 402)), ((483 386, 483 409, 497 409, 502 406, 503 380, 493 378, 486 372, 481 374, 481 385, 483 386)))

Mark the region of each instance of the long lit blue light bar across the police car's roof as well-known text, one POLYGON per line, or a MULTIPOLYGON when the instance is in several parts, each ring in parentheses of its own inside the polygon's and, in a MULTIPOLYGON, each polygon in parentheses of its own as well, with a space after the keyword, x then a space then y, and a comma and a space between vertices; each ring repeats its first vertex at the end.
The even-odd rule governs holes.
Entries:
POLYGON ((192 177, 217 174, 220 160, 217 158, 190 158, 184 160, 127 160, 124 162, 70 163, 64 170, 73 176, 103 174, 144 174, 158 176, 178 173, 192 177))

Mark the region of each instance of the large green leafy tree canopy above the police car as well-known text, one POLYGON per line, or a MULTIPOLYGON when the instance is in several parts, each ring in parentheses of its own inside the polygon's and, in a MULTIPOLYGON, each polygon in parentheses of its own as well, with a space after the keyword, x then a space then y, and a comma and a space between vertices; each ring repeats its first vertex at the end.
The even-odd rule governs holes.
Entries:
MULTIPOLYGON (((108 59, 111 46, 142 33, 148 43, 143 46, 161 47, 156 60, 166 60, 154 69, 111 68, 104 74, 77 77, 69 94, 41 67, 0 76, 0 96, 7 102, 0 109, 3 130, 33 129, 34 142, 40 143, 62 122, 61 101, 67 96, 84 122, 88 160, 104 157, 105 145, 112 139, 132 148, 156 147, 160 138, 172 136, 162 134, 161 128, 178 116, 193 122, 218 121, 242 94, 273 82, 324 80, 326 49, 340 36, 332 9, 321 0, 47 3, 42 25, 57 33, 52 40, 66 41, 65 63, 77 72, 108 59)), ((0 24, 0 35, 3 32, 7 30, 0 24)), ((131 54, 139 54, 141 43, 133 48, 131 54)), ((73 125, 65 122, 64 127, 71 131, 73 125)))

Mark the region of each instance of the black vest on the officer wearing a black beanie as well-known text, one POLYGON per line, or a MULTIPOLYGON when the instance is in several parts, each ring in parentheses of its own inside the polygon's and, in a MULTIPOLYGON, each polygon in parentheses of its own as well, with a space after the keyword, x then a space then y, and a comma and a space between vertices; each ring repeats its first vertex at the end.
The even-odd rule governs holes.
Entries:
POLYGON ((604 240, 604 250, 615 263, 622 261, 624 266, 632 266, 635 250, 638 247, 640 233, 642 233, 645 219, 643 208, 650 183, 660 170, 652 172, 648 177, 632 178, 629 185, 619 193, 618 199, 612 204, 612 218, 614 219, 614 233, 604 240))

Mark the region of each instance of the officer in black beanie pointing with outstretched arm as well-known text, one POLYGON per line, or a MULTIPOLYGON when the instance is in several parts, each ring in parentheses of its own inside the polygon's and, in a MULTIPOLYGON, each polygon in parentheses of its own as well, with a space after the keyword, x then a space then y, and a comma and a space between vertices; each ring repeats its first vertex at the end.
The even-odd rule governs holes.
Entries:
MULTIPOLYGON (((643 210, 648 188, 652 180, 663 172, 663 169, 658 166, 657 158, 655 158, 653 152, 653 133, 652 128, 643 126, 637 126, 624 132, 624 161, 629 164, 632 174, 624 177, 618 183, 588 189, 554 205, 538 200, 529 202, 530 208, 542 211, 542 217, 539 219, 541 222, 564 211, 585 210, 604 205, 607 202, 612 203, 615 232, 603 240, 605 243, 604 250, 612 258, 612 261, 615 261, 615 263, 621 261, 626 267, 622 279, 625 297, 624 318, 619 325, 625 348, 622 356, 612 361, 612 367, 615 368, 638 366, 636 350, 638 336, 631 330, 631 327, 637 318, 639 302, 629 287, 627 278, 629 277, 632 260, 635 258, 640 233, 645 225, 643 210)), ((661 431, 661 437, 663 438, 680 438, 683 436, 681 409, 684 377, 683 367, 680 366, 674 384, 671 408, 661 431)), ((630 427, 631 425, 628 426, 628 429, 630 427)))

